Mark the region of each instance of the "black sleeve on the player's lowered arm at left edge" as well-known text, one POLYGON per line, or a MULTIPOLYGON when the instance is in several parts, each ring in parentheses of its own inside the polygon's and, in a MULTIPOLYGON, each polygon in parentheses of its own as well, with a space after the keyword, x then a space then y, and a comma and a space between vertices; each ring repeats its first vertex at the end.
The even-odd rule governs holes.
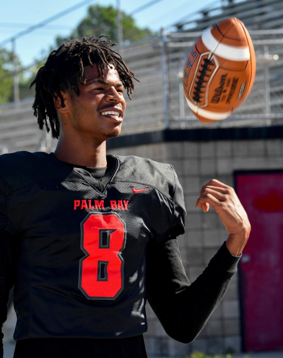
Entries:
POLYGON ((17 248, 15 237, 0 229, 0 357, 3 357, 2 326, 7 319, 9 292, 14 285, 17 248))

